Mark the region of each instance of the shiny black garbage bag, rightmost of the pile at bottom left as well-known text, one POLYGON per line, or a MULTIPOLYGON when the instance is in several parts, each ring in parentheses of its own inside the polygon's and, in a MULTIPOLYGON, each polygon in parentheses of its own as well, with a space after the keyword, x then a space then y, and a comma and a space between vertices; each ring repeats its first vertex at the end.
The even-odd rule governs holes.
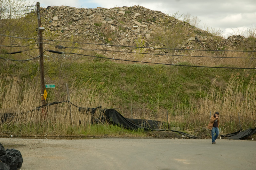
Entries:
POLYGON ((10 166, 10 170, 17 170, 21 168, 23 158, 20 151, 17 149, 6 149, 6 164, 10 166))

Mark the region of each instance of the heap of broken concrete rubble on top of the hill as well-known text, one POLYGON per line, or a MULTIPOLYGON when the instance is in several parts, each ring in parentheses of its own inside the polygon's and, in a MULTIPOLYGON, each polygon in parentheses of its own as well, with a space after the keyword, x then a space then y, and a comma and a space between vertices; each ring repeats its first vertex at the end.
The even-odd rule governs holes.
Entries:
MULTIPOLYGON (((134 48, 107 46, 107 44, 151 47, 151 49, 147 49, 150 50, 150 53, 166 54, 168 51, 158 48, 170 47, 157 40, 157 35, 164 35, 167 28, 173 28, 178 23, 186 29, 183 33, 186 35, 175 46, 176 49, 228 50, 248 44, 248 39, 243 36, 230 36, 228 39, 213 36, 204 30, 191 26, 187 22, 182 22, 160 11, 152 11, 142 6, 123 6, 111 9, 48 6, 42 8, 41 13, 42 24, 46 29, 44 34, 49 36, 47 38, 71 40, 78 37, 79 41, 85 43, 106 44, 98 47, 98 50, 101 50, 98 53, 111 56, 110 52, 105 50, 122 50, 124 53, 119 53, 122 59, 138 59, 134 58, 134 55, 126 53, 136 52, 136 50, 134 48)), ((255 46, 250 48, 255 49, 255 46)), ((148 51, 142 52, 147 53, 148 51)), ((175 52, 176 54, 185 53, 179 50, 175 52)), ((113 52, 111 54, 113 55, 113 52)), ((161 59, 162 56, 147 56, 147 59, 151 58, 151 62, 168 61, 169 57, 172 58, 172 56, 164 56, 164 59, 161 59)), ((180 61, 177 60, 177 62, 180 61)))

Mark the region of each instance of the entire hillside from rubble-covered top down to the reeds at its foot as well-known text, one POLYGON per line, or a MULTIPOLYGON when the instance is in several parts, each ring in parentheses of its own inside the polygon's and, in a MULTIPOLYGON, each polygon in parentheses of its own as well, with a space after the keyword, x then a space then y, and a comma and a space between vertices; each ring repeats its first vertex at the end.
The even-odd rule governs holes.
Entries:
MULTIPOLYGON (((120 8, 113 8, 92 10, 94 14, 90 16, 83 12, 89 11, 87 9, 44 9, 42 20, 49 24, 43 35, 45 84, 55 84, 54 89, 46 89, 46 103, 67 100, 68 84, 73 104, 116 108, 127 118, 159 120, 193 131, 205 127, 210 115, 218 111, 223 133, 255 127, 255 36, 223 39, 161 12, 143 7, 125 9, 125 15, 116 14, 120 8), (56 20, 55 15, 63 10, 69 13, 56 20), (136 22, 129 19, 134 19, 133 13, 141 10, 136 22), (73 11, 83 17, 70 19, 73 11), (147 20, 147 13, 158 17, 147 20), (133 28, 134 23, 141 26, 133 28), (177 41, 172 42, 174 39, 177 41), (125 41, 128 44, 124 44, 125 41), (48 50, 63 54, 52 54, 48 50)), ((49 106, 45 115, 42 110, 21 114, 41 104, 39 62, 35 58, 38 56, 37 26, 33 22, 36 16, 32 15, 21 19, 31 23, 24 28, 24 33, 12 32, 12 27, 4 25, 12 34, 0 36, 0 115, 17 113, 17 117, 0 126, 1 132, 14 135, 102 133, 101 126, 91 126, 90 115, 68 103, 49 106), (16 51, 22 52, 12 54, 16 51), (17 61, 31 58, 34 59, 17 61), (85 124, 81 125, 81 121, 85 124)))

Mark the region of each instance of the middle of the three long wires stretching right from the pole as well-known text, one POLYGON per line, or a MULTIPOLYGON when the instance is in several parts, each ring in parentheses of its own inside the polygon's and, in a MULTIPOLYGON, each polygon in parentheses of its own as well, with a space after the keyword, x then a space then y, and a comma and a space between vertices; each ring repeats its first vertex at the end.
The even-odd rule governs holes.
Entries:
POLYGON ((130 52, 130 51, 116 51, 116 50, 100 50, 100 49, 83 49, 80 47, 65 47, 65 46, 60 46, 60 45, 53 45, 51 43, 43 43, 43 44, 49 44, 52 46, 55 46, 55 48, 59 49, 65 49, 65 48, 70 48, 70 49, 81 49, 84 51, 109 51, 109 52, 121 52, 121 53, 133 53, 133 54, 145 54, 145 55, 161 55, 161 56, 180 56, 180 57, 202 57, 202 58, 246 58, 246 59, 256 59, 256 58, 248 58, 248 57, 210 57, 210 56, 190 56, 190 55, 176 55, 176 54, 157 54, 157 53, 143 53, 143 52, 130 52))

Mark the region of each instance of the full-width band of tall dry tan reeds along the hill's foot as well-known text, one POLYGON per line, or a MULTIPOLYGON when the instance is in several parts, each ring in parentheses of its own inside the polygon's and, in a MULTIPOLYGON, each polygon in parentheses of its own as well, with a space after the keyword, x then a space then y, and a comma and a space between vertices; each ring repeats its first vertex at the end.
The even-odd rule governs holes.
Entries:
MULTIPOLYGON (((2 133, 29 136, 44 134, 68 136, 89 133, 92 121, 90 114, 79 112, 75 106, 67 102, 49 106, 44 110, 33 110, 39 103, 38 87, 40 86, 36 82, 28 83, 20 81, 18 78, 15 79, 0 79, 1 113, 15 113, 12 119, 1 124, 2 133)), ((184 108, 184 106, 178 105, 169 111, 161 107, 151 110, 146 104, 130 108, 111 105, 109 101, 113 95, 110 92, 100 94, 98 90, 100 86, 89 83, 89 81, 80 87, 71 85, 69 87, 70 99, 79 107, 116 108, 127 118, 168 122, 171 126, 184 130, 206 126, 210 116, 216 111, 220 112, 222 133, 254 127, 256 125, 255 77, 250 77, 245 72, 241 75, 237 73, 230 77, 225 88, 220 86, 218 79, 216 76, 207 92, 207 97, 201 97, 199 101, 191 99, 194 107, 184 108), (250 82, 244 88, 244 81, 248 80, 250 82)), ((67 97, 63 98, 63 96, 57 100, 65 98, 67 100, 67 97)), ((100 116, 100 112, 96 112, 95 116, 100 116)))

